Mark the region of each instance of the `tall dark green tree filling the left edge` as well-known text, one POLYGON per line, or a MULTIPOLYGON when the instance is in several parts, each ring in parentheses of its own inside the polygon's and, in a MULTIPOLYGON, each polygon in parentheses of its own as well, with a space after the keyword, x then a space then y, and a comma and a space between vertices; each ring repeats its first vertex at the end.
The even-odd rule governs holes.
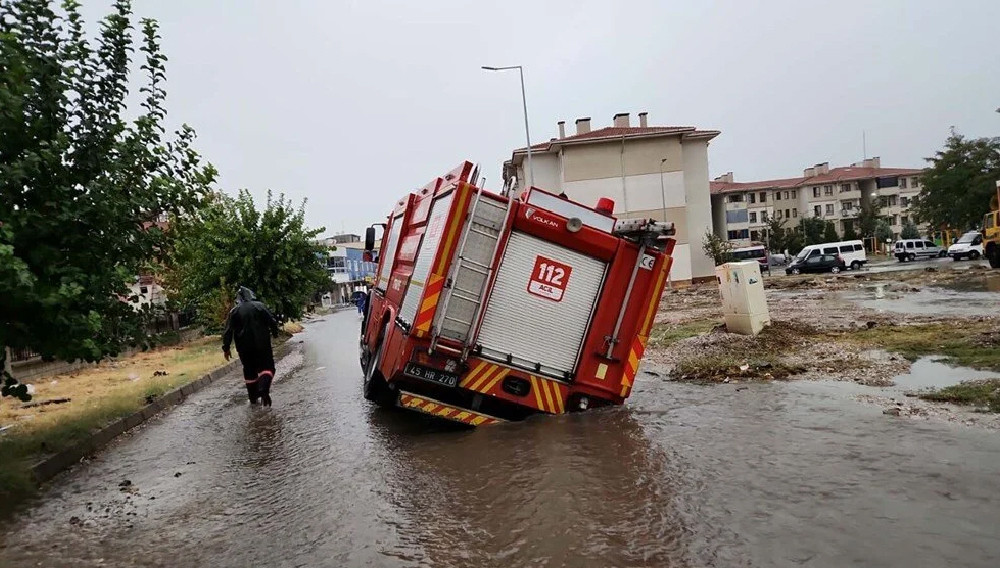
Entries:
MULTIPOLYGON (((190 128, 164 136, 156 22, 142 20, 137 43, 118 0, 90 40, 78 2, 61 14, 47 0, 0 0, 0 354, 95 361, 146 344, 142 314, 122 299, 164 250, 156 222, 197 206, 215 170, 190 128), (145 81, 130 121, 137 50, 145 81)), ((3 382, 27 398, 6 371, 3 382)))

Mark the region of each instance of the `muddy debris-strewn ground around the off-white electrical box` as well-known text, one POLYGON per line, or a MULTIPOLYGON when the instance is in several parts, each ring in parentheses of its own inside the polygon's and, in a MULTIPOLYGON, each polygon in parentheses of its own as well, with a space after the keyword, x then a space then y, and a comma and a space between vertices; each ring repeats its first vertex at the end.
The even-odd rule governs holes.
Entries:
POLYGON ((887 330, 886 336, 892 330, 894 337, 937 327, 966 330, 987 347, 1000 341, 1000 319, 993 314, 970 318, 881 312, 844 296, 874 290, 876 284, 884 286, 887 295, 906 294, 959 279, 985 279, 987 273, 970 269, 770 278, 765 288, 772 325, 757 337, 725 331, 714 284, 668 290, 646 351, 647 369, 671 380, 698 382, 797 378, 892 385, 893 377, 909 370, 910 361, 877 349, 880 330, 887 330))

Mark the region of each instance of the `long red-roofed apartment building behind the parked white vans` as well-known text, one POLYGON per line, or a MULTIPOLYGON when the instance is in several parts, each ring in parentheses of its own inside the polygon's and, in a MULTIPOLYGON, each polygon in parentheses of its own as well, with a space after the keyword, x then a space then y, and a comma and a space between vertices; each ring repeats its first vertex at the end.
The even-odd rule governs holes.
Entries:
POLYGON ((833 169, 823 162, 803 170, 801 177, 776 180, 737 182, 729 172, 711 183, 713 227, 717 235, 742 244, 763 240, 770 219, 782 219, 791 228, 802 217, 817 217, 832 221, 843 235, 856 222, 861 204, 877 199, 898 238, 911 220, 909 206, 920 193, 921 172, 883 168, 878 157, 833 169))

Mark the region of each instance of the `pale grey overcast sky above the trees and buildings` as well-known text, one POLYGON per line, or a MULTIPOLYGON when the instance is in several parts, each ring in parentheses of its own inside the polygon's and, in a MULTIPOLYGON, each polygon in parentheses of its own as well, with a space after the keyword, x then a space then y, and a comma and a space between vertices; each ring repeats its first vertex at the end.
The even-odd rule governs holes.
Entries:
MULTIPOLYGON (((109 0, 83 0, 92 22, 109 0)), ((160 21, 172 126, 223 189, 308 198, 361 232, 460 161, 500 167, 556 122, 649 112, 721 130, 711 175, 869 156, 921 167, 955 126, 1000 134, 1000 1, 135 0, 160 21)))

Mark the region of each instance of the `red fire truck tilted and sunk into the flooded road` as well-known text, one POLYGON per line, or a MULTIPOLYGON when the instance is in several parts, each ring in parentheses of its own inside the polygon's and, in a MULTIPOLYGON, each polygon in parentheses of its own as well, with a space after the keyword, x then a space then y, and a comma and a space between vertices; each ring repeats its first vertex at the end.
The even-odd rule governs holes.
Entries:
POLYGON ((465 162, 389 215, 362 323, 365 398, 473 426, 622 404, 673 224, 477 179, 465 162))

